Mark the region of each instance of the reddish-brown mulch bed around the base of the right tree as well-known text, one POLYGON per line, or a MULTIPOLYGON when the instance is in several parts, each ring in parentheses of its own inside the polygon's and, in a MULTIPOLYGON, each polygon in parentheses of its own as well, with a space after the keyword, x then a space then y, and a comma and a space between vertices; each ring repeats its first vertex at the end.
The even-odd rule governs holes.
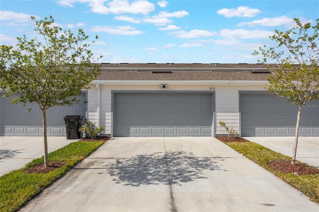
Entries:
POLYGON ((305 163, 292 164, 290 161, 277 160, 268 164, 275 171, 283 172, 285 174, 295 175, 316 175, 319 174, 319 170, 316 167, 311 167, 305 163))

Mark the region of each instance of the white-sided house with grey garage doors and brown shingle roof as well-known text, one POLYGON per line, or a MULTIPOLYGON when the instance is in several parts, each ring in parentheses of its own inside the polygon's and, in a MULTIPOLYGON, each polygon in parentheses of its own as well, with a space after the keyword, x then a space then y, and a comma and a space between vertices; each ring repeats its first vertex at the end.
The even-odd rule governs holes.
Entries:
MULTIPOLYGON (((102 133, 112 137, 226 135, 220 120, 242 137, 295 135, 298 107, 266 92, 270 73, 262 64, 101 65, 82 104, 49 109, 49 135, 65 135, 67 114, 104 125, 102 133)), ((21 107, 1 97, 0 106, 1 136, 41 135, 36 104, 21 107)), ((303 108, 300 135, 319 136, 319 101, 303 108)))

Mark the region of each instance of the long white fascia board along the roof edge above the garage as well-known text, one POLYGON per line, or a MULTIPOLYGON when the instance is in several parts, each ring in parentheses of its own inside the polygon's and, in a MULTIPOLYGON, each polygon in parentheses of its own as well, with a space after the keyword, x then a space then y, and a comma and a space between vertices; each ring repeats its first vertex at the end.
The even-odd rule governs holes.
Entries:
POLYGON ((100 85, 265 85, 268 81, 251 81, 251 80, 181 80, 181 81, 167 81, 167 80, 94 80, 91 84, 100 85))

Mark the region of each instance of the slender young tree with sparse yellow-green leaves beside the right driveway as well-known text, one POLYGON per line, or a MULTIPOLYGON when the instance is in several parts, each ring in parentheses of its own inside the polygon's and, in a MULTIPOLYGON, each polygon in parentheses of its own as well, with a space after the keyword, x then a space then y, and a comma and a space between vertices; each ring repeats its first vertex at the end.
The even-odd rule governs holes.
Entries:
POLYGON ((266 65, 272 76, 268 78, 268 92, 287 97, 298 105, 292 164, 295 164, 299 123, 302 107, 311 100, 319 100, 319 19, 316 25, 303 24, 294 18, 296 27, 287 31, 275 30, 270 36, 273 46, 264 45, 253 55, 262 55, 259 62, 266 65), (269 64, 268 61, 274 64, 269 64))

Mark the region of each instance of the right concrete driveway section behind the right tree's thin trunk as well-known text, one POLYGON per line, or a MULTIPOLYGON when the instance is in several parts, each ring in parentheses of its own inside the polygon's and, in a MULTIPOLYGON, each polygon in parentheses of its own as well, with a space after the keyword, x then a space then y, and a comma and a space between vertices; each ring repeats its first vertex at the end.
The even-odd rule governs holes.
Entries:
MULTIPOLYGON (((292 157, 295 137, 244 137, 271 150, 292 157)), ((298 138, 296 159, 319 168, 319 137, 298 138)))

